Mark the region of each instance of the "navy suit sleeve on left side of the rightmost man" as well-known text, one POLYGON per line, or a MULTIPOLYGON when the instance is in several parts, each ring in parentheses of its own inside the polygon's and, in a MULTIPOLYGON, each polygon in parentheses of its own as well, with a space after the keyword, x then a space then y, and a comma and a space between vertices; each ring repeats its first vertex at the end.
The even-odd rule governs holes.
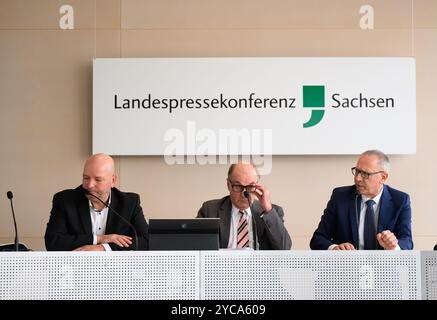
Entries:
POLYGON ((313 237, 310 241, 310 248, 312 250, 327 250, 329 246, 334 244, 332 242, 334 236, 334 228, 337 225, 336 206, 334 200, 334 193, 323 211, 322 218, 313 237))

